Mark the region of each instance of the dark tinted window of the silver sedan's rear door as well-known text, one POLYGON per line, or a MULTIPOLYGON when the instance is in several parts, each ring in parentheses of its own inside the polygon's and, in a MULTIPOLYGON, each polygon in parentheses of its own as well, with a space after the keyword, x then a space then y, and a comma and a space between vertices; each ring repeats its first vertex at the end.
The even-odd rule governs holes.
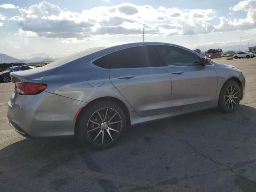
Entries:
POLYGON ((111 68, 158 67, 159 56, 152 46, 138 46, 115 52, 111 68))

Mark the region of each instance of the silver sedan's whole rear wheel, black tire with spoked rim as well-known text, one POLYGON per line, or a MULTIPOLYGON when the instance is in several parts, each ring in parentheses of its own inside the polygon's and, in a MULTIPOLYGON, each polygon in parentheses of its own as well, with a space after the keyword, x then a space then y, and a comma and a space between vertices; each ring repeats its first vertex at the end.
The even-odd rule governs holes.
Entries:
POLYGON ((116 144, 124 135, 125 113, 114 102, 98 102, 81 112, 76 128, 76 136, 84 145, 90 144, 93 147, 105 149, 116 144))

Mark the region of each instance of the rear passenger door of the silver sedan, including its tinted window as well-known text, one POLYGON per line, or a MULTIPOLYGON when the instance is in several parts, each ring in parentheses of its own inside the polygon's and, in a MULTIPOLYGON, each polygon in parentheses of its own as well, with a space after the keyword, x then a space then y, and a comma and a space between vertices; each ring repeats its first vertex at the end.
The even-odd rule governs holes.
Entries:
POLYGON ((139 116, 170 112, 170 76, 151 45, 115 52, 109 77, 139 116))

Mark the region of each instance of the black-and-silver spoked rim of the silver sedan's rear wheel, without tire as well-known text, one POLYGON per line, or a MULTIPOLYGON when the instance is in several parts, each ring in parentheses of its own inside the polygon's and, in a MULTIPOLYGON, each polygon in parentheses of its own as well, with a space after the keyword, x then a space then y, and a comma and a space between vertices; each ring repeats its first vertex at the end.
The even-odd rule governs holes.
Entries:
POLYGON ((87 134, 95 144, 109 144, 118 138, 121 128, 120 114, 112 108, 101 108, 90 117, 87 134))

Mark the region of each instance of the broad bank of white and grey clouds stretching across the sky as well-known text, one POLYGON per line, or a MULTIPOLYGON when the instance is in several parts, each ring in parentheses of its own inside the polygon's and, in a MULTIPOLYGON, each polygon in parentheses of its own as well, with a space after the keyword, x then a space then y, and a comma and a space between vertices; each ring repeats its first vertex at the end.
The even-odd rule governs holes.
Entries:
POLYGON ((20 35, 60 38, 63 43, 102 36, 141 36, 142 24, 146 24, 144 32, 147 36, 191 36, 255 28, 255 2, 242 1, 230 9, 247 12, 247 17, 239 20, 217 18, 212 9, 154 8, 122 3, 72 12, 48 2, 20 8, 20 15, 10 20, 19 21, 20 35))

